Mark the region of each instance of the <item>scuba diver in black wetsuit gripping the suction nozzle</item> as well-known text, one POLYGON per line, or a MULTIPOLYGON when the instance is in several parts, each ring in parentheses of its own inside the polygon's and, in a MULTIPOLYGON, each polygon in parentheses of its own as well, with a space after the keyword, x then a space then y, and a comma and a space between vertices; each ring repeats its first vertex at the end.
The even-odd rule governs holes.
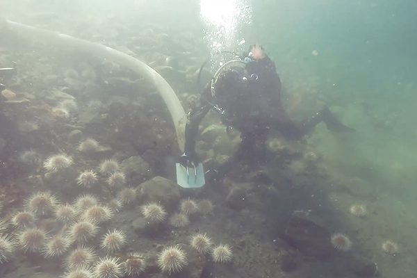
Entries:
POLYGON ((281 80, 275 63, 261 45, 254 44, 243 57, 224 63, 202 92, 200 103, 188 114, 185 152, 179 163, 195 167, 199 162, 195 139, 200 122, 212 109, 220 113, 223 124, 240 131, 242 142, 232 161, 265 163, 265 141, 271 129, 290 140, 311 133, 320 122, 325 122, 331 131, 353 131, 327 107, 304 122, 294 122, 288 117, 280 95, 281 80))

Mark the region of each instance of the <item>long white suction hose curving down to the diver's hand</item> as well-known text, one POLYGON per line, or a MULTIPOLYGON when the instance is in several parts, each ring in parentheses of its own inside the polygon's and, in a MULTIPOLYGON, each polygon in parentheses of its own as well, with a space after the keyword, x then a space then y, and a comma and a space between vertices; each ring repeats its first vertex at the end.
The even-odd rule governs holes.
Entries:
MULTIPOLYGON (((3 27, 1 26, 1 23, 2 22, 0 22, 0 27, 3 27)), ((45 42, 59 45, 60 49, 77 49, 80 52, 90 54, 91 56, 112 60, 115 63, 133 70, 133 72, 140 74, 140 76, 144 76, 147 81, 154 84, 159 95, 161 95, 163 101, 165 101, 165 104, 170 111, 172 121, 174 122, 175 131, 177 132, 179 149, 181 152, 184 151, 187 115, 170 84, 168 84, 167 81, 151 67, 132 56, 102 44, 81 40, 70 35, 47 31, 33 26, 27 26, 10 20, 6 20, 4 25, 6 26, 5 31, 22 35, 24 38, 33 38, 36 40, 42 39, 45 42)))

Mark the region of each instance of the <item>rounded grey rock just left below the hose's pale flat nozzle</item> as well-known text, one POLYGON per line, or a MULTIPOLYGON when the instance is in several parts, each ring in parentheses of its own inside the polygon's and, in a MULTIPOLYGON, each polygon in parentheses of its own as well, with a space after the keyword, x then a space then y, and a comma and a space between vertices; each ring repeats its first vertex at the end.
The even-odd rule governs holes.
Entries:
POLYGON ((163 177, 154 177, 139 185, 138 198, 142 202, 160 202, 167 211, 174 211, 181 195, 177 183, 163 177))

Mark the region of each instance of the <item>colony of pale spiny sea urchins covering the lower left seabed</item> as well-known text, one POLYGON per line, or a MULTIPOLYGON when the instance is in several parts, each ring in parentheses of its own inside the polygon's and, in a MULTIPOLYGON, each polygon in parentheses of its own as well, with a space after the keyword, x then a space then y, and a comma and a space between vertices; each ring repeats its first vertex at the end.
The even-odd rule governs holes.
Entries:
MULTIPOLYGON (((99 149, 99 143, 88 138, 77 149, 83 153, 95 152, 99 149)), ((63 153, 49 156, 43 165, 47 172, 57 173, 74 165, 76 167, 74 159, 63 153)), ((26 200, 24 211, 15 213, 12 218, 18 238, 15 240, 11 236, 0 236, 0 263, 8 261, 14 250, 19 248, 27 253, 42 254, 45 258, 64 256, 65 278, 118 278, 124 275, 140 275, 145 271, 142 254, 133 252, 122 261, 115 257, 126 245, 124 231, 113 229, 103 233, 100 227, 102 223, 111 220, 122 205, 134 204, 136 188, 124 187, 126 177, 115 160, 101 161, 97 172, 92 170, 94 168, 94 165, 90 165, 91 170, 81 171, 74 183, 81 190, 90 190, 105 181, 116 198, 106 198, 106 202, 102 202, 99 195, 82 193, 72 203, 61 203, 53 193, 33 193, 26 200), (58 232, 54 234, 53 231, 58 232), (90 245, 97 239, 99 248, 90 245)), ((213 204, 206 199, 199 202, 190 198, 183 199, 179 212, 172 213, 169 222, 173 227, 184 227, 190 223, 191 215, 208 214, 212 211, 213 204)), ((163 222, 168 216, 165 208, 157 202, 142 205, 141 212, 152 223, 163 222)), ((232 258, 228 245, 213 248, 211 239, 206 234, 193 236, 190 243, 197 252, 211 254, 215 262, 227 262, 232 258)), ((187 264, 186 253, 178 245, 167 247, 158 254, 158 265, 163 272, 180 272, 187 264)))

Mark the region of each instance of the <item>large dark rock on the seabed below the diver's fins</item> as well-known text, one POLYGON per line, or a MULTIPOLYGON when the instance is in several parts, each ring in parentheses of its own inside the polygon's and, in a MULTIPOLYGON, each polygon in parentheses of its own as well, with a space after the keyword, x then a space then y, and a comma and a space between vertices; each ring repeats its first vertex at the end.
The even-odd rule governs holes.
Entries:
POLYGON ((295 212, 286 225, 284 239, 308 256, 325 258, 334 252, 330 232, 319 220, 295 212))

